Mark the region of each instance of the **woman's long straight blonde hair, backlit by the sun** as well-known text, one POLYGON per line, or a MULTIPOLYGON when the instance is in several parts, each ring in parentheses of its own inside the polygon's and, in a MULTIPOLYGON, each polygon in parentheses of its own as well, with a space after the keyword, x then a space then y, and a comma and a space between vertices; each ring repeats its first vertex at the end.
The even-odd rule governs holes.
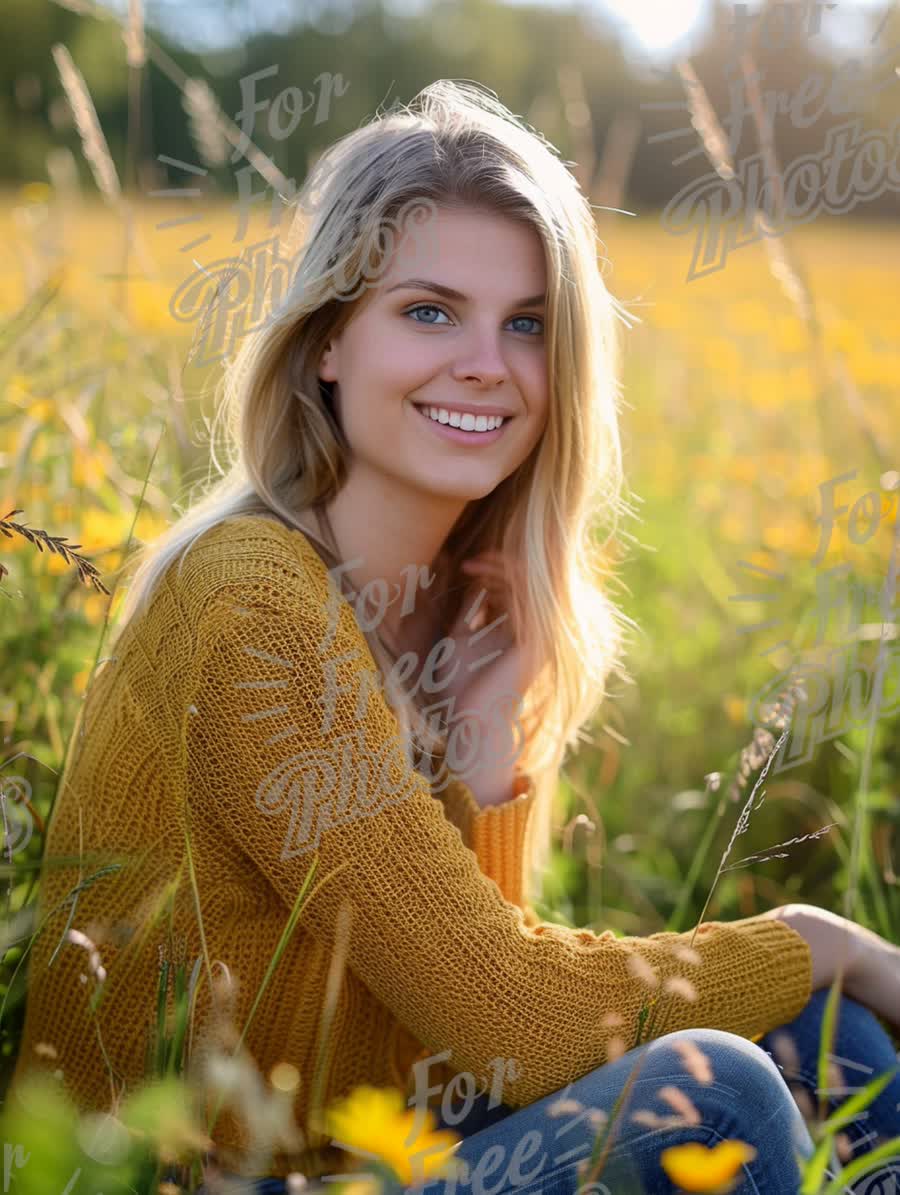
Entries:
MULTIPOLYGON (((527 562, 513 602, 522 642, 543 661, 521 695, 520 717, 519 766, 532 774, 538 792, 526 876, 531 897, 534 875, 543 877, 549 859, 565 750, 607 695, 610 674, 630 682, 622 646, 625 624, 635 624, 606 592, 606 549, 627 509, 616 317, 625 323, 631 317, 604 284, 594 216, 573 174, 549 142, 477 84, 439 80, 410 105, 379 114, 342 137, 317 160, 295 203, 288 244, 300 228, 307 235, 292 284, 226 363, 218 387, 224 402, 216 418, 226 418, 228 431, 227 472, 172 527, 142 545, 121 625, 145 607, 169 565, 176 558, 183 563, 192 543, 227 517, 281 519, 302 529, 326 563, 337 563, 327 521, 317 537, 310 520, 300 527, 298 519, 305 511, 322 516, 347 477, 349 446, 329 385, 318 378, 329 339, 366 301, 347 301, 345 280, 371 276, 373 250, 375 265, 386 258, 384 232, 415 204, 478 208, 532 227, 547 271, 546 430, 513 474, 470 503, 439 557, 445 630, 469 583, 459 569, 464 558, 494 547, 527 562), (601 540, 604 522, 608 533, 601 540)), ((388 684, 396 657, 378 626, 363 633, 408 752, 414 741, 440 746, 441 736, 415 701, 388 684)))

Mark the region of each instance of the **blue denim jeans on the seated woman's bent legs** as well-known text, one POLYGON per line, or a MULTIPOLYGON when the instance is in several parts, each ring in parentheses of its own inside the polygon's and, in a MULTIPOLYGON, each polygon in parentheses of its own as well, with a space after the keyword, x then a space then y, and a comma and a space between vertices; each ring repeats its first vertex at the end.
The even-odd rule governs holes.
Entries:
MULTIPOLYGON (((447 1107, 442 1105, 437 1113, 437 1127, 451 1128, 464 1138, 454 1157, 466 1164, 466 1173, 408 1188, 404 1195, 506 1195, 508 1191, 575 1195, 576 1188, 584 1182, 578 1165, 589 1158, 599 1129, 592 1126, 586 1111, 569 1110, 562 1116, 551 1116, 549 1109, 556 1101, 568 1098, 578 1101, 584 1109, 599 1108, 611 1115, 637 1062, 639 1070, 619 1109, 602 1171, 590 1185, 582 1185, 582 1190, 589 1195, 672 1195, 678 1188, 660 1164, 662 1150, 688 1141, 711 1147, 722 1140, 737 1139, 752 1145, 757 1157, 743 1165, 733 1195, 763 1191, 796 1195, 801 1181, 797 1154, 810 1157, 814 1144, 789 1083, 803 1086, 818 1105, 819 1035, 827 995, 827 988, 814 992, 800 1016, 772 1030, 759 1043, 718 1029, 667 1034, 583 1074, 527 1108, 513 1110, 502 1103, 490 1108, 489 1092, 483 1092, 470 1105, 465 1119, 459 1120, 463 1110, 459 1102, 451 1107, 448 1099, 447 1107), (794 1043, 796 1074, 785 1065, 784 1050, 776 1048, 779 1032, 789 1035, 794 1043), (700 1081, 685 1068, 681 1054, 673 1047, 676 1038, 690 1040, 706 1055, 712 1083, 700 1081), (631 1120, 638 1109, 675 1116, 672 1104, 659 1096, 660 1089, 666 1086, 678 1087, 691 1099, 700 1123, 660 1128, 631 1120)), ((847 1099, 853 1089, 899 1065, 894 1046, 878 1019, 845 995, 839 1000, 829 1056, 841 1068, 845 1086, 824 1090, 828 1111, 847 1099)), ((871 1150, 877 1144, 875 1134, 900 1135, 900 1074, 843 1132, 853 1147, 847 1160, 871 1150)), ((832 1153, 828 1177, 834 1177, 837 1168, 832 1153)), ((855 1187, 845 1189, 855 1195, 900 1193, 900 1157, 896 1162, 882 1162, 876 1170, 857 1179, 855 1187)))

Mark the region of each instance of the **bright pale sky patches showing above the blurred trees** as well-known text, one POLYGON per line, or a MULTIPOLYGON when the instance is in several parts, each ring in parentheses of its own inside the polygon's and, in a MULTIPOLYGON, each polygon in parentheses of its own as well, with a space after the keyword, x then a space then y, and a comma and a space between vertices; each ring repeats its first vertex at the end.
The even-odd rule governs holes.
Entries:
MULTIPOLYGON (((515 4, 516 0, 507 0, 515 4)), ((521 0, 534 2, 534 0, 521 0)), ((569 4, 570 0, 545 0, 546 4, 569 4)), ((106 0, 110 8, 124 13, 128 0, 106 0)), ((676 53, 690 48, 706 24, 710 0, 581 0, 582 6, 606 16, 620 30, 626 51, 636 60, 655 65, 671 61, 676 53)), ((398 13, 416 11, 424 0, 388 0, 398 13)), ((760 0, 747 0, 749 11, 760 7, 760 0)), ((163 25, 194 50, 221 49, 239 44, 247 36, 262 30, 284 31, 292 26, 298 12, 320 7, 327 14, 329 27, 339 33, 342 10, 347 0, 145 0, 148 23, 163 25)), ((833 45, 849 49, 865 45, 862 18, 882 12, 884 0, 838 0, 822 14, 822 35, 833 45)))

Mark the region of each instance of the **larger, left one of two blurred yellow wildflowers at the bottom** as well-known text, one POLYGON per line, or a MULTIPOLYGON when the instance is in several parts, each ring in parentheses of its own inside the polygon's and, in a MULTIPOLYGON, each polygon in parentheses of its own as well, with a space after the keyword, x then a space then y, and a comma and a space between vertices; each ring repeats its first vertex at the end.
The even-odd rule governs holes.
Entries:
POLYGON ((460 1136, 434 1132, 430 1109, 406 1108, 396 1087, 355 1087, 325 1111, 326 1132, 335 1144, 365 1158, 386 1163, 404 1187, 448 1176, 452 1151, 460 1136))

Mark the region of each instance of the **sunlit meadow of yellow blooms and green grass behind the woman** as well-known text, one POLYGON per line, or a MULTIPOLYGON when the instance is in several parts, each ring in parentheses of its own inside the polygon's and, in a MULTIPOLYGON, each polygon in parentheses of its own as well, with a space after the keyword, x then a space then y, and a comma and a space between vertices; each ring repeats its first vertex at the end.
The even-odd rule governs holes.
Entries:
MULTIPOLYGON (((6 1068, 23 1009, 23 911, 129 539, 152 539, 209 473, 222 362, 197 360, 198 320, 170 304, 192 258, 209 265, 264 241, 267 219, 256 209, 235 244, 235 209, 213 197, 143 197, 127 219, 42 183, 0 201, 14 250, 0 274, 0 517, 76 545, 110 590, 45 543, 0 540, 6 1068), (200 219, 190 232, 164 226, 178 215, 200 219), (207 233, 202 247, 179 247, 207 233)), ((853 595, 884 586, 900 519, 900 225, 821 216, 692 281, 692 246, 657 215, 599 212, 598 225, 607 284, 639 319, 624 332, 633 515, 616 545, 617 600, 637 629, 633 682, 563 768, 537 911, 645 934, 803 901, 900 942, 893 657, 877 716, 853 721, 852 693, 829 697, 829 736, 803 723, 808 758, 797 749, 772 770, 765 803, 733 838, 784 725, 761 717, 759 694, 786 686, 824 644, 850 641, 875 667, 882 613, 853 595), (844 513, 820 552, 828 492, 844 513)), ((883 637, 896 637, 889 620, 883 637)), ((863 686, 861 709, 864 698, 863 686)))

